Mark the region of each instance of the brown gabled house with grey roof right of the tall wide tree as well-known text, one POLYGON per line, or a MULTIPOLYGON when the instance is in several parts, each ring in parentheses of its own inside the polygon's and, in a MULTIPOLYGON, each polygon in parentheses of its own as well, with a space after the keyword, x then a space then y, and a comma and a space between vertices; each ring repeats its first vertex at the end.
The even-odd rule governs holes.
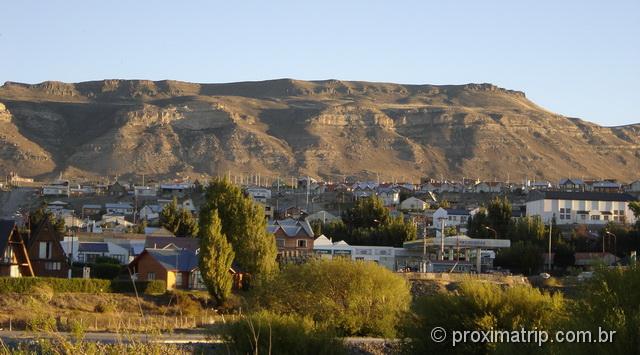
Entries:
POLYGON ((275 235, 279 257, 297 257, 313 253, 314 234, 307 221, 295 219, 276 220, 267 226, 275 235))

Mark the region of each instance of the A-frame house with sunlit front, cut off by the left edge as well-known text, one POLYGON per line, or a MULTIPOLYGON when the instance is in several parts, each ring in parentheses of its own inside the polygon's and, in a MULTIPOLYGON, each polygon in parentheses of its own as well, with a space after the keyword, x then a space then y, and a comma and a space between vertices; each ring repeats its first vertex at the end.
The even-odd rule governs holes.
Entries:
POLYGON ((34 276, 27 247, 13 220, 0 220, 0 276, 34 276))

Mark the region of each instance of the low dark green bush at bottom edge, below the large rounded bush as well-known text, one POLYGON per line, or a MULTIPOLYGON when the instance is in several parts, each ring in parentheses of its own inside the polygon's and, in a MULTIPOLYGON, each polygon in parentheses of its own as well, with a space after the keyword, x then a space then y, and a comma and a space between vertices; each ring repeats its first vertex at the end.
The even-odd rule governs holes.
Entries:
POLYGON ((222 330, 233 354, 345 354, 342 341, 308 317, 267 311, 228 323, 222 330))

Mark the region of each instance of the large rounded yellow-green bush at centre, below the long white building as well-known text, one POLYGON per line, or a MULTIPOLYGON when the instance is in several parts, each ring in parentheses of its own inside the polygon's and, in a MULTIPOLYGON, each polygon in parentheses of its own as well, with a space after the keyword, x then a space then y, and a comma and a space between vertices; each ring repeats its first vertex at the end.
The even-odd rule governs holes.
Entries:
POLYGON ((277 314, 309 317, 340 336, 394 337, 411 301, 406 280, 370 262, 316 260, 288 265, 257 290, 277 314))

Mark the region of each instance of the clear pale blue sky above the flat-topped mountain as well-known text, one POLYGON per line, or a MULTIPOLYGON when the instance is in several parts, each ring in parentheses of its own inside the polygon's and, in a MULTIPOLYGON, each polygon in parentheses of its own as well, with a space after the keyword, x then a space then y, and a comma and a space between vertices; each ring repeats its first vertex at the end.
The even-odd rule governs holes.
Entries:
POLYGON ((640 122, 640 1, 6 1, 0 83, 490 82, 640 122))

